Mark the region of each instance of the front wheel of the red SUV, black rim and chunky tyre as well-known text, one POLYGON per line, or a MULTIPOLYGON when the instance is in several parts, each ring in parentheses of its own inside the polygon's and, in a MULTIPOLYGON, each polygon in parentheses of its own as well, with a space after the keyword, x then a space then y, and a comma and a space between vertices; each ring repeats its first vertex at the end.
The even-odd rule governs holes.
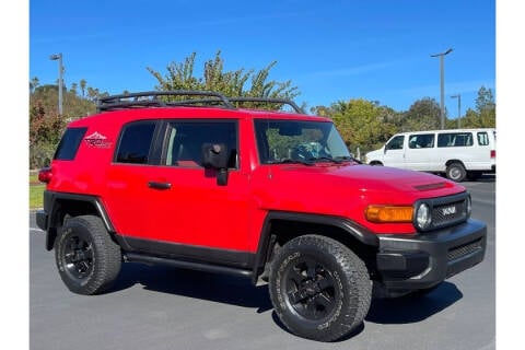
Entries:
POLYGON ((273 258, 270 299, 293 334, 337 340, 362 324, 372 283, 364 262, 341 243, 305 235, 287 243, 273 258))

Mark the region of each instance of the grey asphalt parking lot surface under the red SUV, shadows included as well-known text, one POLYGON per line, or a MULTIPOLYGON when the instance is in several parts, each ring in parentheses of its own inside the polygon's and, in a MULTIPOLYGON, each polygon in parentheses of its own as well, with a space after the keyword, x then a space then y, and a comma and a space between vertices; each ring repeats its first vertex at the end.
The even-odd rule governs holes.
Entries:
POLYGON ((373 300, 334 343, 287 332, 267 285, 222 275, 125 264, 109 293, 73 294, 30 213, 31 349, 495 349, 495 182, 463 185, 488 225, 485 260, 427 296, 373 300))

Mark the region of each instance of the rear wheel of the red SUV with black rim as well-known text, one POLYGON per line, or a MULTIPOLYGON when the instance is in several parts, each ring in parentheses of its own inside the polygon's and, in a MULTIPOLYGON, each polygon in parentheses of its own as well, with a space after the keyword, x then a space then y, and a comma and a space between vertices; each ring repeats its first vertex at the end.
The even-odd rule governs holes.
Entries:
POLYGON ((78 294, 97 294, 117 278, 120 247, 112 241, 97 217, 83 215, 66 221, 55 241, 58 272, 68 289, 78 294))

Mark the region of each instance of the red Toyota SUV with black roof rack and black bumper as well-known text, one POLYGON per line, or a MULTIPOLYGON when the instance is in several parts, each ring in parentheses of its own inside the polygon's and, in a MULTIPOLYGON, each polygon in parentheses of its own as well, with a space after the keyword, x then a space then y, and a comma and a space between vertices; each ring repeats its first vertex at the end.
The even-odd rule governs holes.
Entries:
POLYGON ((173 91, 98 108, 39 173, 37 223, 72 292, 106 291, 122 261, 260 279, 292 332, 331 341, 373 295, 429 291, 483 259, 464 187, 360 164, 330 119, 292 102, 173 91))

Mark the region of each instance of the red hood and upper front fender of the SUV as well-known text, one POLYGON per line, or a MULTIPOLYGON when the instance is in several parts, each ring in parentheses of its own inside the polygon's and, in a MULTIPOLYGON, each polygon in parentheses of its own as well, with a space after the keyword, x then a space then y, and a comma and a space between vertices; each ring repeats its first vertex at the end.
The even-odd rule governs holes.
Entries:
POLYGON ((436 175, 387 166, 285 164, 267 171, 255 188, 259 205, 267 210, 348 217, 370 203, 412 205, 465 190, 436 175))

